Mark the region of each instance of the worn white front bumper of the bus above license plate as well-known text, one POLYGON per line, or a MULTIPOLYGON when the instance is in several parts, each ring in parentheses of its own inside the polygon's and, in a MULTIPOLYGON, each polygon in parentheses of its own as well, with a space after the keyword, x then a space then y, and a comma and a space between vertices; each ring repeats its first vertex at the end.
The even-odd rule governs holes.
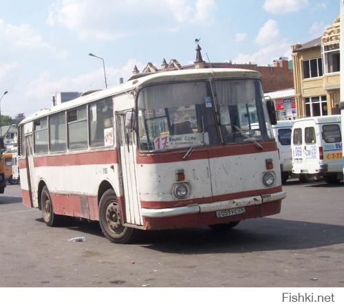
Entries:
POLYGON ((213 203, 190 204, 189 206, 180 206, 178 208, 142 208, 142 216, 149 218, 176 217, 186 214, 199 214, 215 212, 218 210, 229 210, 234 208, 247 208, 250 206, 259 206, 264 203, 279 201, 286 198, 286 192, 275 192, 272 194, 258 195, 227 201, 218 201, 213 203))

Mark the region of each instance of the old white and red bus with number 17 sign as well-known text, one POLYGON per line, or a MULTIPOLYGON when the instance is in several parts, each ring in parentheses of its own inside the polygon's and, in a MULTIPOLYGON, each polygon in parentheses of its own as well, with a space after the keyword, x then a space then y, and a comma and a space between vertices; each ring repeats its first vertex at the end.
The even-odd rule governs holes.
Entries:
POLYGON ((277 214, 286 195, 268 110, 258 72, 189 69, 39 111, 19 126, 23 203, 50 226, 99 221, 116 243, 277 214))

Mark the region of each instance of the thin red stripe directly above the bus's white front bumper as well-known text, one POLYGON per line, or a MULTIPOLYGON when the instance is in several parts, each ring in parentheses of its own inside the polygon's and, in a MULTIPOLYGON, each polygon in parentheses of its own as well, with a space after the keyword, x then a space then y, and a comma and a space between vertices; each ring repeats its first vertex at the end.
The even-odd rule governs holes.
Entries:
POLYGON ((250 190, 245 192, 233 192, 231 194, 219 195, 213 197, 205 198, 195 198, 187 200, 177 200, 177 201, 143 201, 141 200, 142 208, 178 208, 179 206, 188 206, 189 204, 202 204, 202 203, 213 203, 218 201, 227 201, 239 198, 253 197, 257 195, 272 194, 274 192, 282 191, 282 186, 277 186, 273 188, 266 188, 260 190, 250 190))

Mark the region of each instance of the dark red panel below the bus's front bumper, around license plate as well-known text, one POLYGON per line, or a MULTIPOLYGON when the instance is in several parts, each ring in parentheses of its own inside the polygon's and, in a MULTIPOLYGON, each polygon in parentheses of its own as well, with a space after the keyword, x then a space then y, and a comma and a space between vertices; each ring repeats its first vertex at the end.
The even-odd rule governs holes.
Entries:
POLYGON ((143 217, 144 229, 162 230, 175 228, 189 228, 197 225, 216 225, 230 221, 240 221, 255 217, 266 217, 281 212, 281 200, 247 206, 245 214, 217 218, 215 212, 202 212, 197 214, 179 215, 176 217, 143 217))

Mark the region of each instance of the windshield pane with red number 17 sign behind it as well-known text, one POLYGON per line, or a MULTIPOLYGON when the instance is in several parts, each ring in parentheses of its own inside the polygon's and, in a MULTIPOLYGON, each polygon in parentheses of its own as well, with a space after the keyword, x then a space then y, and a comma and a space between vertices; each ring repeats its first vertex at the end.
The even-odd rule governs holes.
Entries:
POLYGON ((138 96, 140 149, 164 151, 219 144, 205 82, 145 87, 138 96))

